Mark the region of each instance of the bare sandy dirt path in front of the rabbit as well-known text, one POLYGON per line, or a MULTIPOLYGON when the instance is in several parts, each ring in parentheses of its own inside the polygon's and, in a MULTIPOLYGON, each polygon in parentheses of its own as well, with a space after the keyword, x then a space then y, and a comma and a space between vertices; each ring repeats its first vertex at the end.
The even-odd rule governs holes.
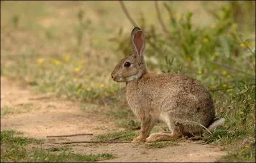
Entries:
MULTIPOLYGON (((44 138, 49 135, 93 133, 101 134, 120 129, 116 122, 98 113, 82 111, 79 103, 34 95, 6 77, 1 77, 1 130, 14 129, 26 136, 44 138), (3 116, 2 116, 3 115, 3 116)), ((98 108, 97 108, 98 109, 98 108)), ((92 136, 76 136, 60 141, 89 141, 92 136)), ((44 147, 54 146, 48 139, 44 147)), ((56 146, 56 144, 55 144, 56 146)), ((146 143, 123 144, 70 144, 77 153, 112 153, 115 159, 105 162, 213 162, 227 153, 212 144, 182 141, 165 148, 147 148, 146 143)))

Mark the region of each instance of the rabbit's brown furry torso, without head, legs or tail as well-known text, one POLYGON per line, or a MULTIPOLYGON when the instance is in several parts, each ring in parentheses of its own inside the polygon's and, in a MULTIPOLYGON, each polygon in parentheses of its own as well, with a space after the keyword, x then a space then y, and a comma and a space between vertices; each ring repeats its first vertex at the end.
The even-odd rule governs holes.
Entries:
POLYGON ((138 81, 128 82, 126 91, 127 102, 136 115, 147 112, 160 121, 167 116, 175 123, 189 120, 204 126, 214 119, 211 95, 186 75, 145 74, 138 81))

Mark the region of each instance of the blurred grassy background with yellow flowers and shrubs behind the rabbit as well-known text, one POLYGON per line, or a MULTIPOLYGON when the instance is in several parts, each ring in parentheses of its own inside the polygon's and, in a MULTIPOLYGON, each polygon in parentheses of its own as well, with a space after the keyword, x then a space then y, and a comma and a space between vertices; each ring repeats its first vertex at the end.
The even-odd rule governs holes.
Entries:
MULTIPOLYGON (((145 32, 150 71, 186 74, 211 91, 226 123, 207 141, 255 137, 255 1, 1 1, 1 75, 129 121, 125 84, 110 74, 132 52, 134 26, 145 32)), ((237 149, 224 159, 255 160, 255 145, 237 149)))

